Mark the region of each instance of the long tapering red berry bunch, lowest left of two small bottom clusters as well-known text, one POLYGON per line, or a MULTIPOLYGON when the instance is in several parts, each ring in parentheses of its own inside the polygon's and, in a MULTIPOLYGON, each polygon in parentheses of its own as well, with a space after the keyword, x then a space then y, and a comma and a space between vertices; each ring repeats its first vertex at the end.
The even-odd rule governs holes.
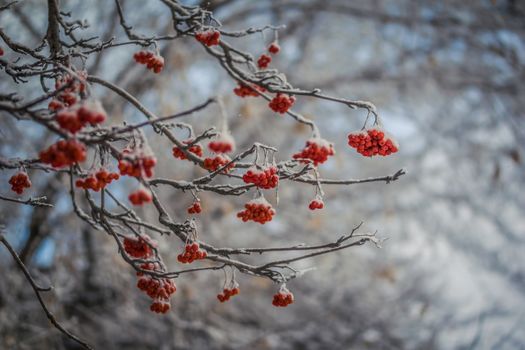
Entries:
MULTIPOLYGON (((155 263, 145 263, 140 265, 140 267, 143 270, 155 272, 158 270, 155 263)), ((143 272, 137 272, 137 276, 139 276, 137 288, 153 299, 153 302, 150 305, 150 310, 162 314, 168 312, 171 307, 170 297, 177 291, 175 283, 167 278, 156 278, 144 275, 143 272)))

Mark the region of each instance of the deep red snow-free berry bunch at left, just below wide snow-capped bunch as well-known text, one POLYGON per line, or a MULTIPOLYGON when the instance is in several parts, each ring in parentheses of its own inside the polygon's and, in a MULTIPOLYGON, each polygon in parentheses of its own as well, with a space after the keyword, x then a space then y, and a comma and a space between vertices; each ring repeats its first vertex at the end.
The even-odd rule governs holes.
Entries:
POLYGON ((39 157, 42 163, 60 168, 86 160, 86 146, 75 139, 60 140, 40 152, 39 157))

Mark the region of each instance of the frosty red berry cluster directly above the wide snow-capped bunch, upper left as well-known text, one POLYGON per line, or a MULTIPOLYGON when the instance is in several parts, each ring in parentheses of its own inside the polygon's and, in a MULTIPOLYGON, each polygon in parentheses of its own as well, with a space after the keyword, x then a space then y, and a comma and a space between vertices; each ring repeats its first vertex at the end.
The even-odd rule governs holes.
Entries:
POLYGON ((85 79, 87 72, 77 72, 76 77, 65 74, 55 82, 55 89, 62 89, 61 92, 49 102, 48 108, 57 111, 65 107, 71 107, 78 101, 78 95, 86 91, 85 79))

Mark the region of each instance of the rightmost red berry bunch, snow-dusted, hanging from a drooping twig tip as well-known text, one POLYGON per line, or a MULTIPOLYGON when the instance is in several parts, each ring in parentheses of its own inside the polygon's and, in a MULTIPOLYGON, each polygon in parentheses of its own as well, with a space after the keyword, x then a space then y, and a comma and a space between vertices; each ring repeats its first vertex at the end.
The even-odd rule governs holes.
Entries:
POLYGON ((397 142, 380 128, 373 128, 348 135, 348 145, 365 157, 388 156, 399 149, 397 142))

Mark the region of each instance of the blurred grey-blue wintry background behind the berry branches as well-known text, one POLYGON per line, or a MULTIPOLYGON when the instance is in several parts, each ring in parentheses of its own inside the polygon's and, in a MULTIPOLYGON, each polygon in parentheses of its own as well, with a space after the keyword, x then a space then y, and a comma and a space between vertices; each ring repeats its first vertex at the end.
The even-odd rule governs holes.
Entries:
MULTIPOLYGON (((0 1, 0 4, 5 3, 0 1)), ((185 1, 196 4, 196 1, 185 1)), ((170 31, 162 4, 123 1, 129 24, 144 35, 170 31)), ((524 349, 525 348, 525 6, 515 0, 223 0, 203 1, 226 30, 285 24, 281 53, 272 63, 296 87, 320 88, 369 100, 400 152, 364 159, 347 134, 366 111, 299 98, 336 156, 320 167, 324 178, 407 175, 391 184, 325 186, 325 209, 307 206, 315 189, 283 182, 278 214, 261 226, 235 213, 251 195, 203 193, 200 237, 218 246, 277 246, 336 240, 364 221, 362 231, 388 238, 382 249, 350 248, 302 261, 315 267, 288 283, 296 302, 271 306, 278 286, 237 274, 241 294, 218 303, 221 271, 176 280, 173 310, 149 312, 135 275, 112 238, 85 226, 72 212, 65 176, 30 171, 29 195, 46 195, 55 209, 0 202, 0 223, 40 284, 62 324, 96 349, 524 349)), ((63 1, 72 19, 85 18, 85 36, 124 37, 111 1, 63 1)), ((0 13, 15 40, 36 46, 47 22, 44 1, 25 0, 0 13)), ((253 55, 273 35, 230 40, 253 55)), ((3 43, 0 45, 4 46, 3 43)), ((158 115, 178 112, 222 94, 239 149, 254 140, 279 148, 278 159, 301 149, 310 131, 276 116, 262 99, 233 95, 236 84, 191 38, 161 43, 163 74, 135 64, 136 47, 93 55, 86 69, 137 96, 158 115)), ((8 59, 13 53, 6 52, 8 59)), ((14 84, 0 72, 0 89, 30 98, 39 82, 14 84)), ((129 104, 94 90, 114 124, 142 120, 129 104)), ((217 106, 184 119, 197 132, 219 125, 217 106)), ((184 131, 179 131, 185 137, 184 131)), ((0 119, 0 156, 36 157, 56 136, 39 126, 0 119)), ((175 160, 171 145, 149 142, 159 177, 202 175, 175 160)), ((0 173, 9 194, 12 171, 0 173)), ((132 181, 112 184, 125 198, 132 181)), ((274 206, 275 193, 267 198, 274 206)), ((170 214, 186 218, 189 193, 162 189, 170 214)), ((156 220, 154 212, 141 215, 156 220)), ((182 243, 158 237, 168 267, 182 243)), ((276 256, 273 256, 274 258, 276 256)), ((250 261, 263 261, 262 257, 250 261)), ((52 328, 27 281, 0 249, 0 349, 76 349, 52 328)))

